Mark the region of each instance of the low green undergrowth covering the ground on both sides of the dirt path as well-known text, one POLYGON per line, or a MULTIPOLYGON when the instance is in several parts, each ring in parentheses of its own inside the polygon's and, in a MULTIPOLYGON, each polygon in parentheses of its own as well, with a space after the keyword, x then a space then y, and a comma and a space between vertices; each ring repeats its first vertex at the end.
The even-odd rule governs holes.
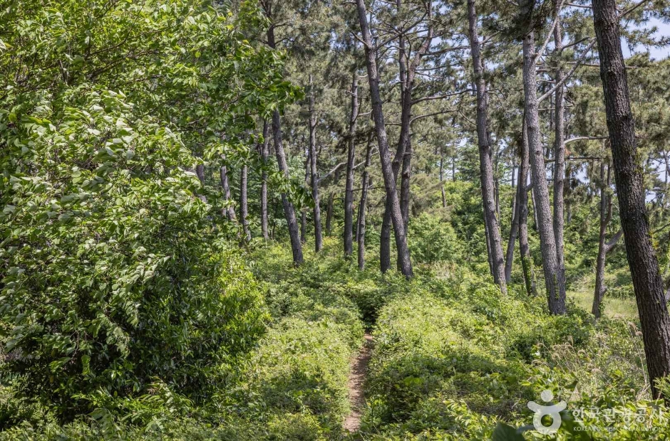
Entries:
MULTIPOLYGON (((666 408, 648 400, 634 323, 596 324, 574 305, 567 316, 552 317, 544 299, 515 287, 503 296, 466 267, 437 276, 435 265, 424 265, 411 282, 360 272, 339 257, 334 239, 297 269, 281 245, 260 246, 249 262, 253 275, 229 268, 246 274, 242 285, 258 293, 259 303, 247 306, 262 329, 248 351, 200 366, 210 378, 206 397, 157 379, 143 395, 106 397, 59 425, 48 407, 16 404, 4 388, 3 415, 21 415, 23 423, 0 438, 488 440, 498 422, 530 425, 527 402, 541 403, 545 389, 570 412, 557 435, 531 431, 526 439, 668 436, 650 431, 667 431, 659 416, 666 408), (346 435, 349 360, 364 327, 375 336, 368 405, 361 431, 346 435), (598 415, 575 422, 579 409, 598 415), (584 425, 597 431, 576 428, 584 425)), ((230 292, 234 285, 222 287, 230 292)), ((500 439, 518 435, 509 436, 500 439)))

